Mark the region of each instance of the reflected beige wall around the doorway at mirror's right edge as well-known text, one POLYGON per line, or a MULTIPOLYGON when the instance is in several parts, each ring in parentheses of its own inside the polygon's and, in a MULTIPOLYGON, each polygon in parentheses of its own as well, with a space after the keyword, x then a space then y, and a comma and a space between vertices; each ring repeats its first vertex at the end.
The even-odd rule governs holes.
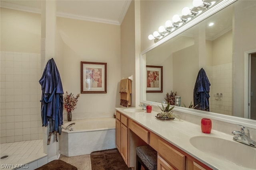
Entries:
POLYGON ((244 52, 256 50, 256 22, 252 22, 252 18, 256 18, 255 1, 237 1, 235 10, 237 11, 233 23, 234 115, 243 116, 244 52))

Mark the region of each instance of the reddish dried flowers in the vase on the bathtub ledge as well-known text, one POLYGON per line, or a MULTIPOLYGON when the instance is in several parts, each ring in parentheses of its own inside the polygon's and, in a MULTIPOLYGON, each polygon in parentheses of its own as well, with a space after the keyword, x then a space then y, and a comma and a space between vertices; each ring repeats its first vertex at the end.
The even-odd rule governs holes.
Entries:
POLYGON ((64 108, 66 109, 66 111, 68 113, 76 108, 76 104, 78 102, 79 96, 80 96, 80 94, 77 94, 76 98, 75 98, 74 94, 72 94, 72 93, 68 94, 68 92, 63 94, 64 108))

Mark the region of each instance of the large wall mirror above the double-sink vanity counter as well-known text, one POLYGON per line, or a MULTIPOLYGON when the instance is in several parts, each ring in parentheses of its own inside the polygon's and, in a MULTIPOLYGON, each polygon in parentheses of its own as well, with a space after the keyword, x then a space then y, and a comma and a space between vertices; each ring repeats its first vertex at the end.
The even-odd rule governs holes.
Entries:
POLYGON ((159 105, 165 101, 166 93, 173 91, 181 97, 180 109, 184 104, 188 107, 193 103, 198 71, 204 68, 211 84, 210 112, 256 119, 256 91, 253 91, 256 87, 253 73, 256 68, 253 65, 256 58, 255 11, 255 0, 237 0, 143 52, 141 101, 159 105), (209 23, 214 25, 209 26, 209 23), (163 66, 162 93, 146 93, 146 65, 163 66))

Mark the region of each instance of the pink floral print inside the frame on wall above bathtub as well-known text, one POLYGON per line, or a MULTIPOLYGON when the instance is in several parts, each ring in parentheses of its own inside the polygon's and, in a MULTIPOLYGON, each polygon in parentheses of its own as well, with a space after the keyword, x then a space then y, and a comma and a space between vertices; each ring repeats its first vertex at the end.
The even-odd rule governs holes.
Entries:
POLYGON ((101 68, 86 68, 86 87, 102 87, 101 68))

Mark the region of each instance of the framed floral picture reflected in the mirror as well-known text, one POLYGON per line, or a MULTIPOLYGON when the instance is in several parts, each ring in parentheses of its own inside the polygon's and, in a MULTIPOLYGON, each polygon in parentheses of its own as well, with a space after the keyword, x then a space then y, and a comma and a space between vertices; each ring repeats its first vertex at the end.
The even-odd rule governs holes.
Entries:
POLYGON ((162 93, 163 92, 163 66, 148 66, 146 65, 147 74, 147 93, 162 93))

